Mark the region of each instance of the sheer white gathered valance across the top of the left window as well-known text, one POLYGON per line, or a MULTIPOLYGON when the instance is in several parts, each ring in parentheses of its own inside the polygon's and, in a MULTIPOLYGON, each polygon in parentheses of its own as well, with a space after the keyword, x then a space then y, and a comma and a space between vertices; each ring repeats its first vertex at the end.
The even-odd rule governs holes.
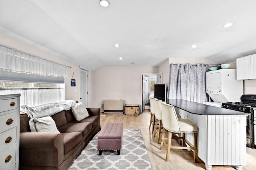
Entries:
POLYGON ((67 66, 4 45, 0 45, 0 70, 42 76, 68 76, 67 66))

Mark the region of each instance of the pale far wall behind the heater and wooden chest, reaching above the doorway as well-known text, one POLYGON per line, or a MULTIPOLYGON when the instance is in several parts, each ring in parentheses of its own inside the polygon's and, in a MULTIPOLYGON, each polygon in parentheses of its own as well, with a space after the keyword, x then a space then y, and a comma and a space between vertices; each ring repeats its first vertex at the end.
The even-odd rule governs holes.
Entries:
POLYGON ((124 100, 141 107, 141 73, 157 73, 156 66, 102 66, 93 73, 90 107, 100 107, 104 100, 124 100))

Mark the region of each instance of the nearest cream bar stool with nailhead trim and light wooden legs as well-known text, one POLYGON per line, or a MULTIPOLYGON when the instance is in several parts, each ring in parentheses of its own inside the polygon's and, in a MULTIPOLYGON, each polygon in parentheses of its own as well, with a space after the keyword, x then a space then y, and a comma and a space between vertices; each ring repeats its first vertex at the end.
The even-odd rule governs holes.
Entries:
MULTIPOLYGON (((177 117, 176 111, 174 109, 174 106, 170 104, 166 104, 166 102, 162 102, 162 123, 163 123, 163 134, 165 131, 168 131, 168 138, 165 138, 164 135, 162 135, 162 142, 160 145, 160 150, 162 149, 162 146, 165 145, 167 147, 167 153, 166 153, 166 161, 169 159, 170 149, 191 149, 194 150, 194 162, 197 161, 197 132, 198 127, 194 125, 191 121, 187 119, 179 119, 177 117), (183 133, 182 137, 174 137, 176 139, 182 139, 183 141, 186 140, 185 133, 194 133, 194 146, 190 146, 189 143, 186 143, 190 147, 187 146, 171 146, 171 140, 172 133, 183 133), (168 143, 165 142, 165 140, 168 139, 168 143)), ((183 142, 184 143, 184 142, 183 142)))

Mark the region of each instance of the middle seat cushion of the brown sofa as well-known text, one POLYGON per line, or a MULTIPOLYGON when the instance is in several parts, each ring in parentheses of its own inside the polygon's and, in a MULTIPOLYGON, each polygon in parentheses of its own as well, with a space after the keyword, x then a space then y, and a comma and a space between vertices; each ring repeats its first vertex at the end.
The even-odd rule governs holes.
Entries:
POLYGON ((82 132, 83 137, 88 135, 87 133, 92 129, 92 123, 82 122, 82 123, 67 123, 62 127, 58 128, 61 133, 68 132, 82 132))

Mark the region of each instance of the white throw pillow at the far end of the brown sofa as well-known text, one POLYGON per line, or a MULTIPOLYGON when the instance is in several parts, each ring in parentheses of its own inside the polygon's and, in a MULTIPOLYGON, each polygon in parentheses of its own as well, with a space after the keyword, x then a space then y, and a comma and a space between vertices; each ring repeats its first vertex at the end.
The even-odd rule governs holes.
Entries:
POLYGON ((81 102, 73 104, 71 106, 71 109, 77 121, 80 121, 89 116, 87 109, 84 107, 84 104, 82 104, 81 102))

